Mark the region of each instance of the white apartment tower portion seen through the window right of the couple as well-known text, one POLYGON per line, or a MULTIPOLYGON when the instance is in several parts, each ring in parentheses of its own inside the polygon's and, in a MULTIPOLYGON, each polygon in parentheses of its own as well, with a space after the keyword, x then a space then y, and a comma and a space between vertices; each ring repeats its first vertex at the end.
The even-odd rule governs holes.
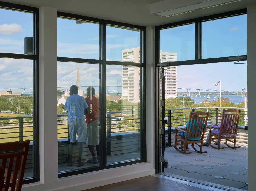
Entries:
MULTIPOLYGON (((140 62, 140 47, 122 50, 123 62, 140 62)), ((140 67, 123 66, 122 96, 129 102, 140 102, 140 67)))

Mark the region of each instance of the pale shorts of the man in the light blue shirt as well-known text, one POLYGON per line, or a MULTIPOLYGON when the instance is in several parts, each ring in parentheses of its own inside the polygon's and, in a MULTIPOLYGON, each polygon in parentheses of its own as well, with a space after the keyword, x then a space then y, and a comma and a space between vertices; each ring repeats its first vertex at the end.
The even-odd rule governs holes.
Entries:
POLYGON ((81 119, 75 119, 69 123, 69 138, 70 142, 76 142, 76 133, 77 133, 77 142, 86 142, 86 124, 85 121, 81 119))

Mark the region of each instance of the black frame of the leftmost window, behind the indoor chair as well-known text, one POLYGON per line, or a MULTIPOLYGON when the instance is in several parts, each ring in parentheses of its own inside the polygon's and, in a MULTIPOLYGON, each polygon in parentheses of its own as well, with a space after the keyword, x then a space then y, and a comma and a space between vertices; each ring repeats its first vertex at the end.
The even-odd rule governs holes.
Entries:
POLYGON ((23 184, 40 181, 40 156, 39 156, 39 9, 26 5, 13 4, 0 1, 0 8, 22 11, 33 14, 33 45, 34 55, 1 53, 0 58, 28 59, 33 60, 33 178, 23 180, 23 184))

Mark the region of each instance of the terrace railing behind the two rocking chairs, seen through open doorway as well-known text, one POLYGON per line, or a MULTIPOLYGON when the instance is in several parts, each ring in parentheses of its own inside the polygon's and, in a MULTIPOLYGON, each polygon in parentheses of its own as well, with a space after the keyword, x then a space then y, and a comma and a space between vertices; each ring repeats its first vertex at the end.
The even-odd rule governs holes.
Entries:
MULTIPOLYGON (((247 131, 244 126, 247 125, 247 108, 225 108, 225 107, 198 107, 198 108, 177 108, 165 109, 165 117, 168 117, 168 123, 165 124, 165 146, 173 146, 175 140, 175 127, 185 129, 189 120, 190 112, 203 111, 209 112, 208 126, 218 125, 221 122, 221 109, 241 109, 241 115, 238 126, 237 142, 247 143, 247 131)), ((204 135, 206 140, 209 130, 204 135)))

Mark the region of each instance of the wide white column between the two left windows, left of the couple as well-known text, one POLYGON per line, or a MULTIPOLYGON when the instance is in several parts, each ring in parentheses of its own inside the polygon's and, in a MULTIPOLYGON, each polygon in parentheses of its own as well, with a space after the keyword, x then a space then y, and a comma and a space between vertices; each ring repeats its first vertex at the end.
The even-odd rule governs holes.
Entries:
POLYGON ((57 10, 39 8, 40 181, 58 180, 57 10))

